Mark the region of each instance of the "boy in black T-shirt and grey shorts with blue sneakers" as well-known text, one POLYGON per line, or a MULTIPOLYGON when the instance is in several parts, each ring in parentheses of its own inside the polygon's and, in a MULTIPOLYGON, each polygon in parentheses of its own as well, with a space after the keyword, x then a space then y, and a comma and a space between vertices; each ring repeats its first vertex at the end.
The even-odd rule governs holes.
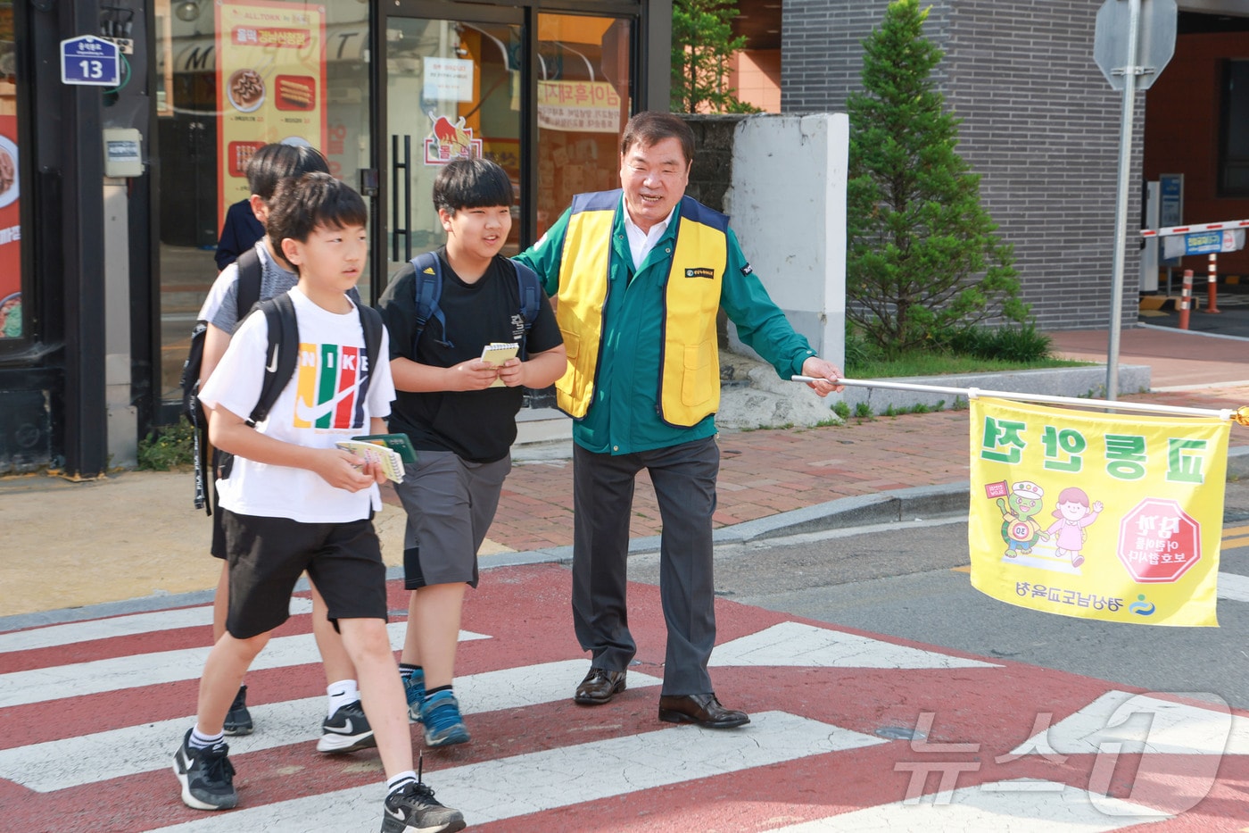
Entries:
POLYGON ((398 390, 390 430, 417 449, 395 485, 407 510, 412 590, 400 673, 410 717, 440 747, 468 740, 452 690, 460 613, 511 470, 521 388, 552 384, 567 358, 537 275, 498 254, 512 228, 507 173, 457 159, 438 171, 433 206, 447 245, 400 269, 378 309, 398 390), (517 344, 518 358, 483 361, 491 343, 517 344))

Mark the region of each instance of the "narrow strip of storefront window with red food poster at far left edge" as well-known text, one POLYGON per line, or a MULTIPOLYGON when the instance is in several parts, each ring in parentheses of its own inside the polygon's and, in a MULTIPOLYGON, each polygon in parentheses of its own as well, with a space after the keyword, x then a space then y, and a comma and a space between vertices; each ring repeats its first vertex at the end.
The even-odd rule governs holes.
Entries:
POLYGON ((21 315, 21 200, 12 4, 0 3, 0 339, 25 335, 21 315))

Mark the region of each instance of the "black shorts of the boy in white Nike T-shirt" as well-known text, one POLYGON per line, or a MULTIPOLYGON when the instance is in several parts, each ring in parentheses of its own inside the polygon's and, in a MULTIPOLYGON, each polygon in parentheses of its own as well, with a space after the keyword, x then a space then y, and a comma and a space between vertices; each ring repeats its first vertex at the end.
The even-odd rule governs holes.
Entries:
POLYGON ((230 563, 226 630, 236 639, 286 622, 291 593, 305 570, 325 599, 331 622, 386 620, 386 564, 372 518, 305 524, 224 509, 221 525, 230 563))

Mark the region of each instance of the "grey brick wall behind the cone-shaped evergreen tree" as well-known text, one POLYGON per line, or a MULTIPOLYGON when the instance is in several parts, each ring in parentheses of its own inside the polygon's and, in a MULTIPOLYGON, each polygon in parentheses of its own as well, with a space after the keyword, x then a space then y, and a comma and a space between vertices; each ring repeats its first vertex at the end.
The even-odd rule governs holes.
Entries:
MULTIPOLYGON (((784 0, 782 111, 844 109, 847 93, 861 89, 861 41, 887 5, 784 0)), ((1014 244, 1023 298, 1042 329, 1109 323, 1122 94, 1093 61, 1099 5, 936 0, 926 25, 947 53, 938 86, 963 120, 959 153, 982 176, 982 204, 998 234, 1014 244)), ((1143 111, 1142 94, 1134 171, 1143 111)), ((1140 216, 1139 189, 1137 175, 1129 228, 1140 216)), ((1128 251, 1124 325, 1137 318, 1137 249, 1128 251)))

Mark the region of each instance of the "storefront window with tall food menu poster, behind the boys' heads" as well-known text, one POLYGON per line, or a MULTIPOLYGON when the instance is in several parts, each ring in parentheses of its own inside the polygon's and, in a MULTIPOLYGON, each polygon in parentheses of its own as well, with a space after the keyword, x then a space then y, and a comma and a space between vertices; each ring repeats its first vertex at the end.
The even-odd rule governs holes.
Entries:
MULTIPOLYGON (((368 4, 159 0, 161 390, 177 395, 230 204, 271 141, 321 150, 358 185, 370 158, 368 4)), ((367 270, 366 270, 367 274, 367 270)), ((360 288, 368 298, 368 286, 360 288)))

